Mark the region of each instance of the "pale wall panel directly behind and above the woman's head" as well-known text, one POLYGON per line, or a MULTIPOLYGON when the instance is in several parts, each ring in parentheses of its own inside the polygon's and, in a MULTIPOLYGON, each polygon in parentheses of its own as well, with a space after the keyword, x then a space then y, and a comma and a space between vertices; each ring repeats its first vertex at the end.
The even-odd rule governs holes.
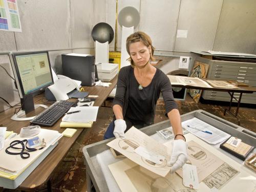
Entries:
POLYGON ((174 50, 180 0, 141 0, 139 30, 151 36, 157 50, 174 50))

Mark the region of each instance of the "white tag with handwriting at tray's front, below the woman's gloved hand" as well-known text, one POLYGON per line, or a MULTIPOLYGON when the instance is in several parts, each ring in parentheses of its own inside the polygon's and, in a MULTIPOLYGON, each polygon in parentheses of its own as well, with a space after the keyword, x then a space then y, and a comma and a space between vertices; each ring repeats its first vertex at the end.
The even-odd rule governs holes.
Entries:
POLYGON ((189 188, 198 189, 199 181, 197 167, 195 165, 184 164, 182 166, 183 185, 189 188))

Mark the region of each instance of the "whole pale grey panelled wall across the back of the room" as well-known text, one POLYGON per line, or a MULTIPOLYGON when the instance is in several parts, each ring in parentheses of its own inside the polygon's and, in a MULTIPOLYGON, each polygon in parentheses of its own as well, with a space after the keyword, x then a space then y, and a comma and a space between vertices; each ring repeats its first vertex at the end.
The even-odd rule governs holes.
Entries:
MULTIPOLYGON (((115 31, 116 0, 19 0, 22 32, 0 31, 0 65, 12 73, 8 52, 49 50, 53 69, 61 73, 61 53, 94 54, 92 28, 99 22, 115 31), (5 63, 9 63, 8 65, 5 63)), ((256 54, 256 1, 254 0, 118 0, 118 12, 135 7, 140 24, 158 54, 191 56, 189 51, 256 54), (186 34, 180 36, 180 30, 186 34)), ((117 25, 117 48, 121 47, 117 25)), ((110 50, 114 50, 114 40, 110 50)), ((19 102, 13 80, 0 68, 0 97, 19 102), (3 83, 8 81, 6 83, 3 83), (12 86, 10 86, 12 85, 12 86), (2 91, 3 90, 3 91, 2 91)), ((8 105, 0 99, 0 111, 8 105)))

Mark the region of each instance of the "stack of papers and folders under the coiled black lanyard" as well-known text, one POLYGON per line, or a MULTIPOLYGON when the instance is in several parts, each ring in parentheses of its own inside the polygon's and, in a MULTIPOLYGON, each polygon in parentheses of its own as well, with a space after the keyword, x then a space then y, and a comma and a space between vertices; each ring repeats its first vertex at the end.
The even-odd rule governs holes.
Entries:
MULTIPOLYGON (((34 168, 53 150, 57 145, 58 140, 62 137, 62 134, 53 130, 40 129, 40 133, 37 136, 41 139, 45 139, 46 147, 42 150, 29 152, 30 157, 28 159, 22 159, 20 155, 9 155, 5 150, 0 151, 0 186, 16 188, 22 183, 34 168), (17 179, 19 175, 22 175, 23 177, 17 179), (17 181, 14 181, 16 179, 17 181), (13 180, 13 183, 11 180, 13 180)), ((16 135, 5 142, 4 148, 7 148, 14 140, 23 139, 24 138, 20 138, 19 135, 16 135)), ((13 152, 13 150, 10 151, 13 152)))

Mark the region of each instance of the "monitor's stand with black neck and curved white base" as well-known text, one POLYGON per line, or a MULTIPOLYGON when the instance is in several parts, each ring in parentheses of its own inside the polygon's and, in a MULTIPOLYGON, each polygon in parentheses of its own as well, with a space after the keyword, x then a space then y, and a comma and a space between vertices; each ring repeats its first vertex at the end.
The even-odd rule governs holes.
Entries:
POLYGON ((20 103, 22 104, 22 110, 19 111, 18 113, 14 114, 11 119, 14 121, 27 121, 27 120, 32 120, 36 116, 33 117, 23 117, 24 115, 28 114, 31 111, 34 111, 35 109, 39 108, 40 106, 42 108, 47 109, 48 106, 44 104, 34 104, 33 101, 33 95, 26 96, 24 98, 20 99, 20 103))

